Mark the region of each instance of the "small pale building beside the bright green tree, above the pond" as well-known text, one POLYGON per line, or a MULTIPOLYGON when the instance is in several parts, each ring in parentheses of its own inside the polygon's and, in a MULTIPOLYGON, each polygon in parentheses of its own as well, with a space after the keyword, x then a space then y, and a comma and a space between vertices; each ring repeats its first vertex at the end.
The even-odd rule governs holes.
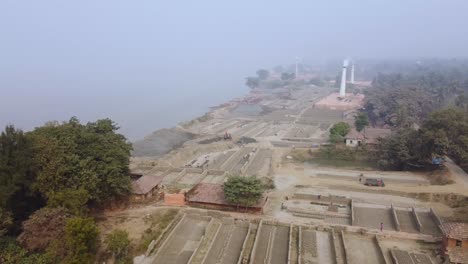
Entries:
POLYGON ((388 137, 390 134, 391 130, 386 128, 365 128, 361 132, 353 128, 346 135, 345 142, 348 147, 357 147, 363 144, 375 145, 379 138, 388 137))

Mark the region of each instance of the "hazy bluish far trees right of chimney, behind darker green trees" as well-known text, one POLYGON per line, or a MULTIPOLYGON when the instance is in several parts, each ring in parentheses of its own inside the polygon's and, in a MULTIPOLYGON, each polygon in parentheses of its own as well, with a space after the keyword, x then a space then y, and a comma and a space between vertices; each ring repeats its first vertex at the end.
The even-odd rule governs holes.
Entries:
POLYGON ((460 102, 464 94, 468 94, 468 66, 436 63, 405 74, 377 74, 366 91, 365 110, 373 125, 407 127, 460 102))

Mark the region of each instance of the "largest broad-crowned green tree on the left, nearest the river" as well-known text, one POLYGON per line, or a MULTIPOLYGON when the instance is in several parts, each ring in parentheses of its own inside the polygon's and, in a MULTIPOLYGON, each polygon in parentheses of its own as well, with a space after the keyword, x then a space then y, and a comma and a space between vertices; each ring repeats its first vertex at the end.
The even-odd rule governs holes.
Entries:
POLYGON ((88 204, 128 194, 131 145, 117 129, 109 119, 82 125, 76 118, 35 129, 31 137, 38 164, 37 189, 55 206, 60 200, 66 202, 68 194, 88 204), (83 197, 85 193, 88 197, 83 197))

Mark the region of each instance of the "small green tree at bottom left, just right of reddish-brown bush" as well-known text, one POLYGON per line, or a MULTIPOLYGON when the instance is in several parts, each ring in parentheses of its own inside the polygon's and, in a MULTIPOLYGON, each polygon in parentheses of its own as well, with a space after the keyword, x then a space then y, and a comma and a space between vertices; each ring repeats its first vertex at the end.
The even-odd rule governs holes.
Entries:
POLYGON ((65 226, 66 263, 93 263, 99 230, 92 218, 74 217, 65 226))

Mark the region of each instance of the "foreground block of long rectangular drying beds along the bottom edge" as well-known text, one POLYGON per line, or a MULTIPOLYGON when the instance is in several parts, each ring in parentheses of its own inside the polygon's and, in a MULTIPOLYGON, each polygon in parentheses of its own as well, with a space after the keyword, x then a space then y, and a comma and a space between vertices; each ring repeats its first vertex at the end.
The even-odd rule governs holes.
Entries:
POLYGON ((401 250, 414 257, 424 254, 433 263, 440 263, 434 256, 435 248, 435 243, 391 234, 363 235, 331 226, 259 222, 258 217, 235 220, 224 213, 188 209, 181 212, 152 253, 135 262, 384 264, 391 251, 401 250))

